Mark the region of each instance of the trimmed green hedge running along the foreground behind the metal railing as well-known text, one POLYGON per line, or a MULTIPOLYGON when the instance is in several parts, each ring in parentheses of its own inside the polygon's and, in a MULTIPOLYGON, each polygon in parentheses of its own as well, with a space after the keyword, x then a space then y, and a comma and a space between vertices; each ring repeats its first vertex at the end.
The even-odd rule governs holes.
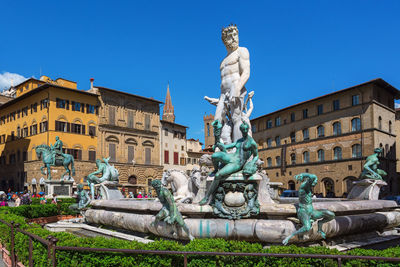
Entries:
MULTIPOLYGON (((42 205, 43 207, 44 205, 42 205)), ((46 205, 47 206, 47 205, 46 205)), ((22 229, 46 238, 48 235, 55 236, 60 246, 77 247, 103 247, 123 249, 145 249, 145 250, 172 250, 172 251, 225 251, 225 252, 254 252, 254 253, 293 253, 293 254, 332 254, 345 255, 335 249, 325 247, 297 247, 272 246, 263 249, 261 244, 248 243, 244 241, 226 241, 223 239, 196 239, 187 245, 175 241, 156 240, 149 244, 135 241, 126 241, 115 238, 83 238, 70 233, 53 233, 42 229, 36 224, 27 224, 25 218, 13 213, 5 213, 0 209, 0 219, 19 223, 22 229)), ((10 231, 7 226, 0 223, 0 240, 10 248, 10 231)), ((28 265, 28 237, 16 234, 16 254, 18 260, 25 266, 28 265)), ((386 256, 400 257, 400 247, 386 250, 354 249, 349 251, 350 255, 386 256)), ((47 265, 47 248, 39 242, 34 242, 35 266, 47 265)), ((93 253, 58 251, 57 266, 183 266, 183 256, 180 255, 146 255, 134 254, 126 256, 118 253, 93 253)), ((337 266, 336 261, 329 259, 290 259, 290 258, 266 258, 266 257, 223 257, 223 256, 188 256, 188 266, 337 266)), ((343 266, 399 266, 398 263, 382 263, 376 261, 343 261, 343 266)))

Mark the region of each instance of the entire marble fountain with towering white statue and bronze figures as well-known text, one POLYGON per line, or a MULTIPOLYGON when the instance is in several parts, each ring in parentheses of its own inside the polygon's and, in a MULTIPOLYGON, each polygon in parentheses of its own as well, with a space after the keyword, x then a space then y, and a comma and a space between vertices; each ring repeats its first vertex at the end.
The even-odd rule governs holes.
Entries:
POLYGON ((254 91, 247 93, 245 88, 249 52, 239 46, 236 25, 222 29, 222 41, 227 56, 220 65, 220 96, 205 97, 216 105, 214 154, 203 156, 201 168, 190 177, 167 170, 161 182, 153 183, 159 200, 94 200, 85 211, 86 221, 178 240, 224 238, 264 244, 321 244, 324 239, 324 244, 335 244, 353 240, 358 233, 393 231, 400 224, 400 211, 394 201, 377 199, 383 181, 374 173, 382 177, 384 172, 375 168, 374 157, 347 199, 313 203, 317 177, 310 173, 296 176, 302 183, 298 200, 283 203, 276 197, 251 133, 254 91), (165 189, 168 184, 172 194, 165 189))

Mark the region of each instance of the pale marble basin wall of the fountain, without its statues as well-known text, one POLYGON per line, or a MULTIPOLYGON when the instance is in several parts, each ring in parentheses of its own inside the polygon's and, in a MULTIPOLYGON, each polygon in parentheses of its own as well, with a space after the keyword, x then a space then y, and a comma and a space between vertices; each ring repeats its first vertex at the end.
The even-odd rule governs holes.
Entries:
MULTIPOLYGON (((152 233, 165 238, 187 240, 179 229, 177 236, 172 228, 161 222, 151 226, 154 215, 161 209, 157 200, 96 200, 91 203, 85 218, 88 223, 106 225, 125 230, 152 233)), ((314 209, 328 209, 336 218, 323 226, 327 239, 339 236, 385 231, 400 225, 400 209, 389 200, 332 200, 313 203, 314 209)), ((212 207, 198 204, 177 204, 185 223, 195 238, 224 238, 268 244, 281 243, 285 237, 300 227, 293 203, 262 204, 260 214, 251 219, 229 220, 215 218, 212 207)), ((321 240, 317 225, 303 237, 294 237, 291 243, 321 240)))

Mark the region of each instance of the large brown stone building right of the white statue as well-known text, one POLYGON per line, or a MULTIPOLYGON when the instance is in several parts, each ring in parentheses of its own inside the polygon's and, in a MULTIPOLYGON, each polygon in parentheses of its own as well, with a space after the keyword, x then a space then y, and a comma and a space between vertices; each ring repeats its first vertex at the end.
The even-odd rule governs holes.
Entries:
POLYGON ((253 138, 271 181, 298 189, 294 175, 314 173, 316 193, 348 193, 374 148, 384 150, 383 195, 399 194, 394 99, 399 91, 375 79, 251 120, 253 138))

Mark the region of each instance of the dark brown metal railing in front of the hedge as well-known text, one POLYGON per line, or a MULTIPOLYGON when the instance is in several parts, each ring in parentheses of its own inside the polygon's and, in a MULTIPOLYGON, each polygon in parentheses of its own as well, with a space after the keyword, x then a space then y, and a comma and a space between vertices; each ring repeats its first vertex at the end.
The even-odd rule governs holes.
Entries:
POLYGON ((15 234, 17 232, 28 236, 29 239, 29 266, 34 266, 33 262, 33 240, 40 242, 47 247, 47 258, 51 266, 57 266, 57 251, 82 251, 82 252, 105 252, 122 253, 126 257, 131 254, 153 254, 153 255, 183 255, 183 265, 188 264, 189 255, 199 256, 234 256, 234 257, 274 257, 274 258, 312 258, 312 259, 332 259, 337 261, 338 266, 342 266, 342 260, 374 260, 383 262, 400 262, 400 258, 394 257, 375 257, 375 256, 352 256, 352 255, 321 255, 321 254, 277 254, 277 253, 241 253, 241 252, 209 252, 209 251, 167 251, 167 250, 141 250, 141 249, 115 249, 115 248, 91 248, 91 247, 67 247, 57 246, 57 238, 49 235, 46 239, 38 235, 29 233, 19 228, 18 223, 8 223, 2 219, 0 222, 10 227, 10 256, 11 266, 16 267, 17 255, 15 254, 15 234))

